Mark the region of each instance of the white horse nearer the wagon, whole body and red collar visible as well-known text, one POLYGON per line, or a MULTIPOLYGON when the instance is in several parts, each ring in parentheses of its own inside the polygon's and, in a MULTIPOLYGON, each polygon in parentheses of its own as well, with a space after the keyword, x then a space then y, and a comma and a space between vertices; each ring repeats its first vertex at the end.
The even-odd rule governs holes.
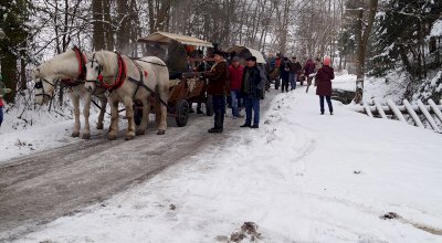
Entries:
POLYGON ((96 83, 108 89, 110 95, 110 128, 108 139, 116 139, 118 131, 118 103, 126 108, 128 127, 126 139, 134 139, 135 134, 146 133, 149 123, 150 95, 156 97, 156 119, 158 135, 164 135, 167 128, 167 102, 169 98, 169 71, 166 64, 158 57, 149 56, 133 61, 114 52, 101 51, 93 53, 86 64, 85 87, 94 92, 96 83), (135 130, 134 101, 143 104, 141 124, 135 130))

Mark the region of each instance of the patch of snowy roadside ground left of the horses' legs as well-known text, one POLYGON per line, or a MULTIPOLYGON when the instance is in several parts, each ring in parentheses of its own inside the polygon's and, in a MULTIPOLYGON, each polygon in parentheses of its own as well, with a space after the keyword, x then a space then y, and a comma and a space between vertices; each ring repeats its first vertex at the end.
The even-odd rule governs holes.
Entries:
MULTIPOLYGON (((97 110, 92 108, 91 112, 91 133, 98 134, 101 131, 95 129, 97 110)), ((83 115, 81 115, 81 123, 83 126, 83 115)), ((48 106, 33 109, 19 105, 9 109, 4 114, 0 129, 0 163, 19 156, 78 142, 80 138, 71 137, 73 126, 74 120, 70 107, 49 112, 48 106)))

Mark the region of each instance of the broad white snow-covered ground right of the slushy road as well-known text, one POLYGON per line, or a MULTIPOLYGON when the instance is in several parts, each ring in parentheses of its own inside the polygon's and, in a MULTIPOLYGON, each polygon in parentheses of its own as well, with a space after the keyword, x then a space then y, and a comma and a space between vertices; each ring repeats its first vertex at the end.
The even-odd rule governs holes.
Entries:
POLYGON ((246 221, 256 242, 441 242, 442 136, 335 106, 280 94, 260 129, 17 242, 227 242, 246 221))

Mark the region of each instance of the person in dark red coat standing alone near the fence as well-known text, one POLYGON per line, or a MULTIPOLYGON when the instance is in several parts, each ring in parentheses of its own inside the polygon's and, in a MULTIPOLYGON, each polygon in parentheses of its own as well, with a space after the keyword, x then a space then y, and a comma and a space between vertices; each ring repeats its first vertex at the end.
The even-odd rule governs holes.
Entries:
POLYGON ((330 66, 330 57, 326 56, 324 59, 323 66, 318 70, 316 74, 316 94, 319 95, 320 115, 324 115, 324 99, 327 99, 328 110, 333 115, 332 105, 332 80, 335 78, 335 73, 330 66))

